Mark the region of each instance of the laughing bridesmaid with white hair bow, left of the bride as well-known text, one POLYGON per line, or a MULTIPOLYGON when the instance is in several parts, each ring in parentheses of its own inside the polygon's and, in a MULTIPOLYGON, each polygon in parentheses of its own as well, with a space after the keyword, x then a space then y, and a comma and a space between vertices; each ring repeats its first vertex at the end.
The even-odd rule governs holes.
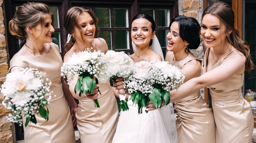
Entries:
MULTIPOLYGON (((102 38, 94 38, 96 30, 98 34, 100 29, 97 26, 98 19, 95 13, 82 7, 72 7, 64 15, 64 27, 71 35, 65 45, 64 62, 67 61, 74 53, 79 53, 87 48, 93 47, 93 50, 100 50, 103 53, 108 51, 107 43, 102 38)), ((98 35, 97 35, 98 37, 98 35)), ((69 79, 70 77, 68 77, 69 79)), ((116 85, 123 85, 122 78, 118 78, 116 85)), ((79 104, 76 112, 77 128, 82 143, 111 143, 116 132, 118 121, 118 107, 115 94, 117 90, 111 87, 109 82, 101 83, 99 81, 99 95, 97 88, 92 95, 86 93, 86 97, 75 93, 76 80, 73 81, 70 91, 79 104), (100 107, 96 108, 91 103, 98 97, 100 107)), ((96 85, 97 87, 97 85, 96 85)))

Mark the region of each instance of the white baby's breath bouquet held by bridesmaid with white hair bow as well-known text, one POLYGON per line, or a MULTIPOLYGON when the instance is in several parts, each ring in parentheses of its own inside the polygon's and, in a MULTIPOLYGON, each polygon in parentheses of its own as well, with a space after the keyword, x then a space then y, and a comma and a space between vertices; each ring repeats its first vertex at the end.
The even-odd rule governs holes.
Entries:
MULTIPOLYGON (((75 85, 75 93, 91 94, 96 84, 98 84, 96 76, 101 70, 105 70, 106 61, 104 60, 104 53, 100 51, 90 52, 90 50, 73 54, 72 57, 63 63, 61 67, 61 76, 69 77, 68 84, 74 84, 74 80, 77 78, 75 85)), ((102 81, 104 82, 104 81, 102 81)), ((99 91, 99 90, 98 90, 99 91)), ((95 107, 99 107, 97 99, 93 100, 95 107)))

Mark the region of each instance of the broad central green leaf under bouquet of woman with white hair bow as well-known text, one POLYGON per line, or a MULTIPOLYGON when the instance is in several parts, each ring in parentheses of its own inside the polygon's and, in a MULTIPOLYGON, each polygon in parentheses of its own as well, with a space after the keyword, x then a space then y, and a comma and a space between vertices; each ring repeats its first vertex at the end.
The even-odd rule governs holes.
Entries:
POLYGON ((83 93, 86 94, 86 92, 88 92, 89 94, 91 94, 94 90, 95 85, 96 81, 91 77, 86 76, 85 78, 83 78, 82 82, 83 93))

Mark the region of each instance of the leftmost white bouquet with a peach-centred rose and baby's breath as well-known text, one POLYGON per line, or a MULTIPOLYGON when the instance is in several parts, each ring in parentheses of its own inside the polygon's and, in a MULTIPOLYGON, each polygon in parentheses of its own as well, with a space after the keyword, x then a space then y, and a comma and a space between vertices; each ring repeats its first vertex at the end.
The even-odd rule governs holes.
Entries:
POLYGON ((49 79, 44 79, 45 75, 38 69, 32 68, 13 71, 6 75, 1 93, 5 97, 3 105, 11 111, 8 115, 9 122, 16 122, 21 126, 23 116, 26 119, 25 127, 30 121, 36 124, 35 113, 48 121, 47 105, 52 98, 50 91, 52 83, 49 79))

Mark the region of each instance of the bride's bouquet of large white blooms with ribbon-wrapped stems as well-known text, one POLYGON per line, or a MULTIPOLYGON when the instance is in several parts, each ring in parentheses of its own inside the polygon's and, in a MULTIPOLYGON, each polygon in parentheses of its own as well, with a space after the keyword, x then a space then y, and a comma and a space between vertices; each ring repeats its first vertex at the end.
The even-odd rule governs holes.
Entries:
MULTIPOLYGON (((128 77, 132 67, 134 66, 133 60, 124 52, 115 52, 110 50, 105 54, 105 59, 107 61, 107 70, 102 71, 100 75, 104 75, 105 78, 111 77, 115 82, 117 82, 116 80, 119 77, 128 77)), ((119 91, 123 90, 124 88, 119 89, 119 91)), ((119 94, 120 108, 122 111, 129 110, 127 99, 125 99, 125 97, 125 94, 119 94)))

